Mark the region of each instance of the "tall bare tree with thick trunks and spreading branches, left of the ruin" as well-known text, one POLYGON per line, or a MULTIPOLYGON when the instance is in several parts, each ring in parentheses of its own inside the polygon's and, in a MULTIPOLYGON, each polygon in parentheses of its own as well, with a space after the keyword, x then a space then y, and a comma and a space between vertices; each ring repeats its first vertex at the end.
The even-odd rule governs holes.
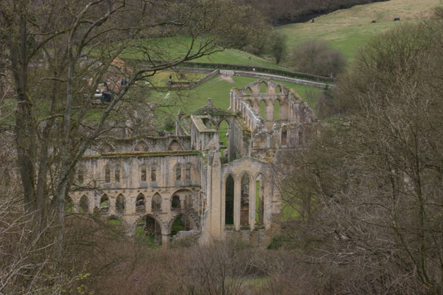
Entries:
POLYGON ((228 0, 0 2, 20 183, 27 212, 41 227, 37 235, 53 218, 63 225, 72 171, 108 119, 118 117, 127 91, 159 70, 221 50, 236 34, 231 22, 246 22, 243 12, 228 0), (176 38, 159 44, 165 36, 176 38), (129 67, 117 59, 122 53, 146 62, 129 67), (110 101, 97 107, 103 81, 110 101))

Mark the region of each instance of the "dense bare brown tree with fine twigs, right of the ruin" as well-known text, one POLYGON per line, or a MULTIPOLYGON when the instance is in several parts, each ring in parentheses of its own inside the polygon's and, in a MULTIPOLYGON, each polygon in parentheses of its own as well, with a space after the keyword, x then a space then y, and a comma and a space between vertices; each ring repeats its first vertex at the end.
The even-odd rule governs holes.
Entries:
POLYGON ((442 292, 441 22, 370 41, 340 82, 341 114, 296 157, 285 197, 314 230, 291 237, 321 241, 308 256, 335 273, 332 292, 442 292))

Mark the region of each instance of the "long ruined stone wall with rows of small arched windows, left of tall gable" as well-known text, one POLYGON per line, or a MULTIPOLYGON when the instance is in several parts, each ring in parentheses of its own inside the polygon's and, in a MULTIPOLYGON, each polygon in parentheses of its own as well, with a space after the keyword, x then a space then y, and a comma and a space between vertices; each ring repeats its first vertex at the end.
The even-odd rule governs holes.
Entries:
POLYGON ((117 218, 126 225, 129 234, 134 232, 136 223, 143 216, 149 215, 154 216, 162 224, 163 233, 169 235, 169 223, 179 214, 187 214, 195 226, 199 226, 198 212, 203 202, 200 169, 202 163, 198 152, 85 157, 77 168, 77 188, 70 197, 75 212, 95 211, 107 218, 117 218), (79 181, 79 173, 82 173, 82 181, 79 181), (172 208, 174 195, 181 202, 176 209, 172 208), (117 206, 119 196, 124 200, 124 209, 120 211, 117 206), (160 209, 153 206, 155 196, 160 199, 160 209), (142 206, 137 201, 140 197, 142 206), (86 204, 82 204, 82 198, 86 198, 86 204), (107 208, 103 207, 104 198, 109 201, 107 208))

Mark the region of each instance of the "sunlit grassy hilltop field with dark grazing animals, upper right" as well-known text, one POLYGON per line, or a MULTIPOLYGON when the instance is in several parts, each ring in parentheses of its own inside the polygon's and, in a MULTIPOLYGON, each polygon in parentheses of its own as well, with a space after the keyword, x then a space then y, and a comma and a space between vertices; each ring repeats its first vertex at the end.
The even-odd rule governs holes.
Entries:
POLYGON ((285 25, 277 29, 288 37, 290 48, 310 39, 328 41, 350 60, 357 49, 375 34, 402 22, 415 22, 432 15, 441 0, 390 0, 354 6, 316 18, 315 22, 285 25), (394 22, 400 18, 401 22, 394 22), (375 20, 376 23, 371 23, 375 20))

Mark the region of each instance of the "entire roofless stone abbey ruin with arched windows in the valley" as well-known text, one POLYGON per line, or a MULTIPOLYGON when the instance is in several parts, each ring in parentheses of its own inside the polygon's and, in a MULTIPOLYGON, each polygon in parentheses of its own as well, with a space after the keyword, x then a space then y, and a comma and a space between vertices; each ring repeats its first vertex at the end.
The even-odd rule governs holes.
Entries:
POLYGON ((108 152, 86 152, 73 210, 118 220, 128 235, 142 228, 166 246, 177 221, 200 242, 236 236, 265 245, 281 221, 273 164, 304 145, 314 122, 312 109, 282 84, 232 89, 229 110, 208 99, 192 114, 179 112, 174 135, 121 138, 108 152))

